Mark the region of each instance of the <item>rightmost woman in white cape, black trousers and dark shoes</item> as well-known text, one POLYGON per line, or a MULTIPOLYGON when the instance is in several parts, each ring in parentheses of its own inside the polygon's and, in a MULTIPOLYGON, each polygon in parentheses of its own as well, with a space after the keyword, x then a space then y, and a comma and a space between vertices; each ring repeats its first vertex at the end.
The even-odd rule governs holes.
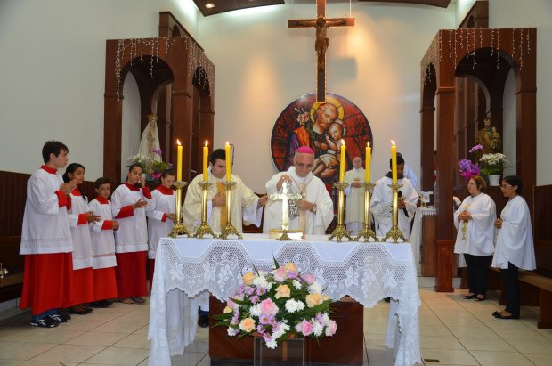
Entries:
POLYGON ((504 284, 506 308, 492 315, 499 319, 519 319, 520 293, 518 269, 532 271, 536 268, 535 248, 532 240, 531 216, 527 202, 520 196, 524 182, 516 175, 502 180, 500 190, 507 197, 506 207, 500 213, 495 226, 499 229, 492 266, 500 268, 504 284))

